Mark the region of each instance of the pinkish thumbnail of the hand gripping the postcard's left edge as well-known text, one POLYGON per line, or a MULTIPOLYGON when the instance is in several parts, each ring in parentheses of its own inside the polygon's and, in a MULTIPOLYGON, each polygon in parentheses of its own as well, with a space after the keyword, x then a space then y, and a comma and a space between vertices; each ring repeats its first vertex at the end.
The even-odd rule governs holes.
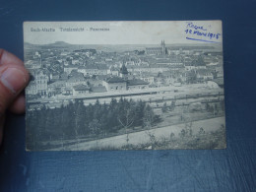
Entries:
POLYGON ((16 68, 8 68, 4 71, 0 81, 13 94, 20 92, 26 83, 26 77, 23 71, 16 68))

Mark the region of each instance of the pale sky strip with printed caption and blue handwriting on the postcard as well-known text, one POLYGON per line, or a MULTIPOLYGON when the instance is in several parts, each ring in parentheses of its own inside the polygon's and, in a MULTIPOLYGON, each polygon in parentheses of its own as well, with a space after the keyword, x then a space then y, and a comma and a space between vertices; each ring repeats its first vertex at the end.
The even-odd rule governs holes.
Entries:
POLYGON ((207 41, 222 43, 222 34, 221 21, 24 23, 24 40, 32 44, 48 44, 55 41, 65 41, 71 44, 160 44, 161 40, 164 40, 166 44, 204 44, 207 41), (61 28, 84 30, 83 32, 61 32, 61 28), (43 32, 45 29, 52 29, 52 32, 43 32), (108 30, 93 31, 92 29, 108 30), (186 33, 186 30, 192 30, 192 33, 186 33), (195 31, 220 33, 221 35, 216 39, 198 35, 198 33, 194 34, 195 31))

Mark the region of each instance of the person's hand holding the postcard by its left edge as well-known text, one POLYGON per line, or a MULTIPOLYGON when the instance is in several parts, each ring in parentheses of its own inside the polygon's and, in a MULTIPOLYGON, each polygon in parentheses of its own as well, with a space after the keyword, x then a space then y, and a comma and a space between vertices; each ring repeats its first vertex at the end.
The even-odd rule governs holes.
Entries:
POLYGON ((25 96, 22 93, 29 83, 29 73, 18 57, 0 49, 0 145, 3 139, 5 112, 25 112, 25 96))

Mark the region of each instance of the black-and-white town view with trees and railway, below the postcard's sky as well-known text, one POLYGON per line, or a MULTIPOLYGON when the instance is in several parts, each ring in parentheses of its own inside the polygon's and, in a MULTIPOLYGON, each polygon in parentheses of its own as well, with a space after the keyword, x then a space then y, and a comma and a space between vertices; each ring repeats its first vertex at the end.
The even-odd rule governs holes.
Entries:
POLYGON ((225 146, 221 46, 171 45, 165 44, 164 39, 155 45, 27 43, 25 61, 31 73, 26 91, 29 149, 221 149, 225 146), (114 105, 115 102, 120 106, 114 105), (70 110, 71 104, 80 108, 73 112, 72 128, 67 127, 66 132, 59 128, 54 133, 60 125, 52 127, 45 116, 56 110, 50 116, 64 118, 65 114, 53 116, 60 110, 70 110), (115 106, 119 111, 114 120, 111 117, 114 112, 109 111, 115 106), (91 113, 108 112, 104 112, 106 117, 102 117, 103 112, 100 117, 96 117, 98 114, 89 117, 89 109, 91 113), (42 118, 40 115, 44 122, 36 120, 42 118), (103 118, 112 119, 113 124, 107 124, 103 118), (106 128, 109 126, 112 129, 106 128))

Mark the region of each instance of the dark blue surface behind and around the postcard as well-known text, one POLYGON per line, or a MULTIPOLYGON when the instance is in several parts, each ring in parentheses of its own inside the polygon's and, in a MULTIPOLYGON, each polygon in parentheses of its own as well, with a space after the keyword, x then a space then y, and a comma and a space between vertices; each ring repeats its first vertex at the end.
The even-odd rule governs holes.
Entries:
POLYGON ((24 21, 222 20, 226 150, 25 152, 10 114, 0 191, 256 191, 256 1, 0 0, 0 47, 23 58, 24 21))

